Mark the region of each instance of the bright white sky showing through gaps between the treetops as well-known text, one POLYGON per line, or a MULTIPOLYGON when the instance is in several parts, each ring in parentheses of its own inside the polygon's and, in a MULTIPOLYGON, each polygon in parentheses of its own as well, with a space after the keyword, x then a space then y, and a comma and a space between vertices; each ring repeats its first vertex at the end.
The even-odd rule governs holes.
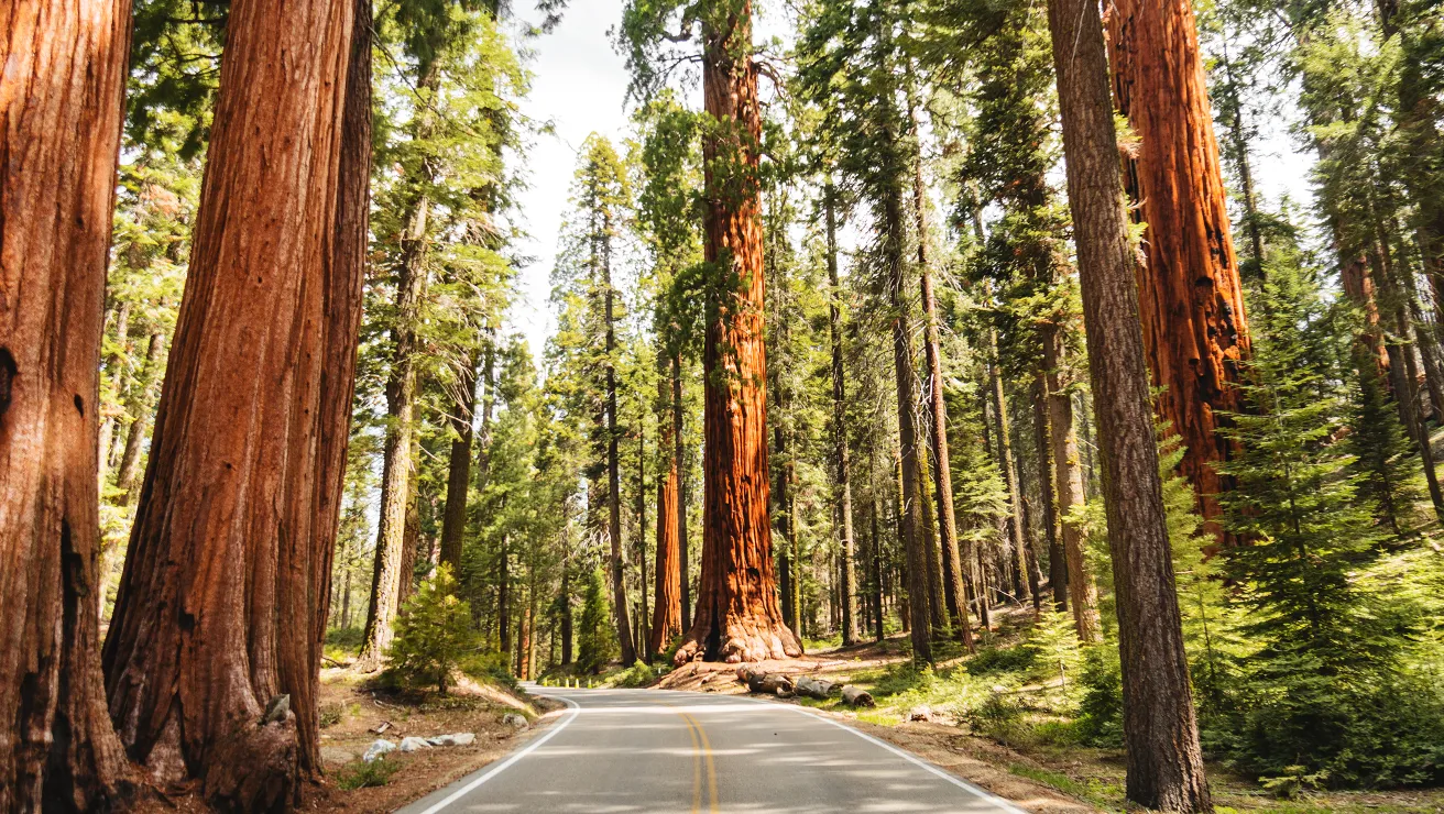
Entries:
MULTIPOLYGON (((521 270, 521 302, 513 310, 510 329, 527 336, 539 361, 556 323, 547 302, 549 279, 576 152, 593 131, 615 141, 630 127, 627 68, 608 38, 621 12, 622 0, 575 0, 553 33, 529 43, 534 51, 530 62, 534 76, 531 95, 521 110, 534 121, 552 121, 556 131, 537 136, 527 152, 530 188, 520 195, 518 204, 531 240, 521 248, 534 261, 521 270)), ((758 36, 778 32, 784 25, 775 16, 762 19, 758 36)), ((1281 123, 1261 127, 1252 157, 1256 186, 1265 199, 1275 202, 1287 193, 1297 205, 1308 206, 1313 156, 1298 150, 1281 123)))

